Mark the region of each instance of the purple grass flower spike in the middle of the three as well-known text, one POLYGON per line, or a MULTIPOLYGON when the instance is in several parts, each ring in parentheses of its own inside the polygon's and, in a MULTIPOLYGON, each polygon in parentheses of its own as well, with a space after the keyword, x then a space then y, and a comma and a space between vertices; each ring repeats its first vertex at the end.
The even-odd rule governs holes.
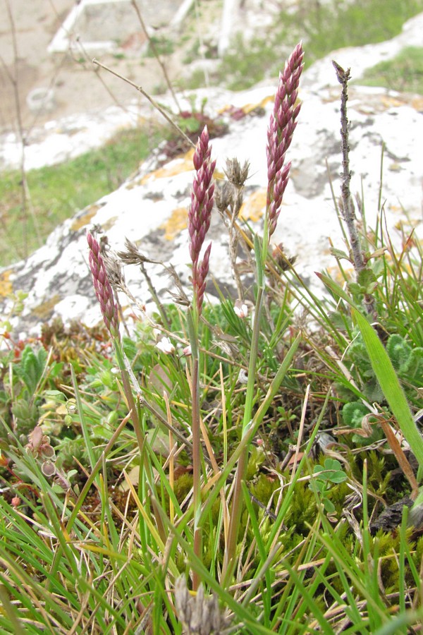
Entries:
POLYGON ((190 257, 192 260, 192 286, 198 315, 201 314, 206 277, 209 272, 209 257, 212 243, 204 252, 202 262, 200 253, 209 231, 214 201, 213 172, 216 161, 210 159, 212 146, 209 145, 209 131, 204 126, 197 147, 193 163, 196 174, 192 183, 191 205, 188 210, 188 233, 190 235, 190 257))

